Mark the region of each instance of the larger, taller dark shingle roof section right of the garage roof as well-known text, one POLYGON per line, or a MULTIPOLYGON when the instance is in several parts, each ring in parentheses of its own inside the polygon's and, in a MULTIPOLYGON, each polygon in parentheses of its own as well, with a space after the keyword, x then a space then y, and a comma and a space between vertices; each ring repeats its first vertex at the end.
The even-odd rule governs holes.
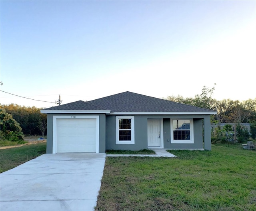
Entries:
POLYGON ((108 108, 111 112, 212 112, 206 108, 175 103, 129 91, 88 101, 91 105, 108 108))

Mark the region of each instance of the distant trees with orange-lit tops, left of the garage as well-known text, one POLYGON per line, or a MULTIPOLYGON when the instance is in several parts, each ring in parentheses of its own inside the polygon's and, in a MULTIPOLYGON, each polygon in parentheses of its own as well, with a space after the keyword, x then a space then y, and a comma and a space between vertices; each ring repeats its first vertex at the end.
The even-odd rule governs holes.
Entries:
POLYGON ((10 114, 18 122, 25 135, 46 135, 47 115, 41 114, 40 109, 20 106, 17 104, 1 105, 0 109, 10 114))

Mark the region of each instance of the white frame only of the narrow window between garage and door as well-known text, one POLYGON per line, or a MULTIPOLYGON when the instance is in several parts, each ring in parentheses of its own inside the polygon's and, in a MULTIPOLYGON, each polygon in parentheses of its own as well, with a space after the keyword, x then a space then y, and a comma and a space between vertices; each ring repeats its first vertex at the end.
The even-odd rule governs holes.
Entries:
POLYGON ((116 144, 135 144, 134 141, 134 116, 116 116, 116 144), (120 119, 131 119, 131 140, 120 141, 119 140, 119 120, 120 119))

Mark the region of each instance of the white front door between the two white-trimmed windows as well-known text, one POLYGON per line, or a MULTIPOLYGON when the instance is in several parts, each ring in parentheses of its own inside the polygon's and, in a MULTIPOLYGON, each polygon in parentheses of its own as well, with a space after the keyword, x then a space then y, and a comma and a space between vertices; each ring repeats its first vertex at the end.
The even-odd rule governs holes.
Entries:
POLYGON ((161 119, 148 119, 148 148, 162 147, 161 119))

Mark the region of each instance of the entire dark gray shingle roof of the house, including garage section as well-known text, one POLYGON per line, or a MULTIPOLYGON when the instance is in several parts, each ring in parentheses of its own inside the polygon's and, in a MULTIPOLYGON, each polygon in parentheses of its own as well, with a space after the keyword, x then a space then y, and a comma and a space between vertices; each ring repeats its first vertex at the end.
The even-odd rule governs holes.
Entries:
POLYGON ((43 110, 110 110, 112 112, 213 112, 196 106, 140 95, 129 91, 92 101, 76 101, 43 110))

